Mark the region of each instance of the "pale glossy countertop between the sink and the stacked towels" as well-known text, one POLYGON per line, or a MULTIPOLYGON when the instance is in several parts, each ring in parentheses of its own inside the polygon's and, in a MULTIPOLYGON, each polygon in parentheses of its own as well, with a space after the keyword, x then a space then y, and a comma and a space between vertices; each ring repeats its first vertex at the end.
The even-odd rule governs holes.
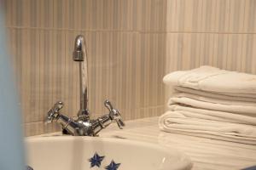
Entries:
POLYGON ((125 124, 122 130, 115 124, 111 125, 102 130, 100 137, 139 140, 174 147, 190 156, 194 163, 193 170, 234 170, 256 165, 256 145, 161 132, 158 117, 128 121, 125 124))

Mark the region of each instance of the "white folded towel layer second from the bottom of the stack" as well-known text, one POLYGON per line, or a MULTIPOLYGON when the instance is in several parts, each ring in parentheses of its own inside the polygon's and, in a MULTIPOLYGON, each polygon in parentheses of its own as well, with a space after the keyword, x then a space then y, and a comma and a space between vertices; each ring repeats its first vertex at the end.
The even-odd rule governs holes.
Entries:
POLYGON ((170 111, 178 111, 186 117, 206 119, 218 122, 233 122, 256 126, 256 117, 244 116, 224 111, 210 111, 186 107, 182 105, 169 105, 170 111))

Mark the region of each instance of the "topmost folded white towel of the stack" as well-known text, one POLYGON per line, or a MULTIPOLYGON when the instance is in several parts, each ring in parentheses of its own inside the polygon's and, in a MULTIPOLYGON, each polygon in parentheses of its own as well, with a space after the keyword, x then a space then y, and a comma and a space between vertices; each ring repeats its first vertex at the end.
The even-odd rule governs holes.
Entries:
POLYGON ((172 86, 216 93, 253 94, 253 98, 256 98, 256 75, 224 71, 212 66, 175 71, 166 75, 164 82, 172 86))

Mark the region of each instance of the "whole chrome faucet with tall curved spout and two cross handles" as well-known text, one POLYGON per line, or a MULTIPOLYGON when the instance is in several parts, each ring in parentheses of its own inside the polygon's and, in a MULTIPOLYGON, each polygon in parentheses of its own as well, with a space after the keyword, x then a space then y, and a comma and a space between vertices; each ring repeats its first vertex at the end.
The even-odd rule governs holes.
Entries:
POLYGON ((58 122, 61 124, 63 131, 74 136, 96 136, 112 122, 117 122, 119 128, 122 129, 125 123, 119 111, 114 109, 108 100, 104 102, 104 105, 108 108, 109 113, 94 120, 90 119, 88 109, 88 62, 85 39, 81 35, 75 38, 73 60, 79 62, 80 109, 78 116, 71 118, 61 114, 60 110, 64 104, 59 101, 48 111, 46 122, 58 122))

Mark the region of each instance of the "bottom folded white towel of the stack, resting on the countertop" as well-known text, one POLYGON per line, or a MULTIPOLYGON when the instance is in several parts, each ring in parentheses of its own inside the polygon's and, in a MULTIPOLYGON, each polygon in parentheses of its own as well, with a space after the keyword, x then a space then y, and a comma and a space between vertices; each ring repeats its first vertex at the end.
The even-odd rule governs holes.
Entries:
POLYGON ((171 133, 256 144, 256 127, 254 126, 191 118, 179 111, 167 111, 160 116, 159 126, 161 130, 171 133))

